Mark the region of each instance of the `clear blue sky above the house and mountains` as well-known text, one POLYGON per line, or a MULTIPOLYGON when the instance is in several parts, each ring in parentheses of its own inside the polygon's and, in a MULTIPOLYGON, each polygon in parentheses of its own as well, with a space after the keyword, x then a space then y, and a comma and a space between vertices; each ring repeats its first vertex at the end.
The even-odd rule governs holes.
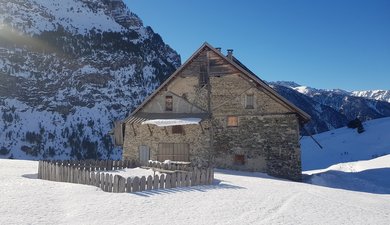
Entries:
POLYGON ((260 78, 316 88, 390 89, 390 0, 125 0, 188 59, 234 49, 260 78))

